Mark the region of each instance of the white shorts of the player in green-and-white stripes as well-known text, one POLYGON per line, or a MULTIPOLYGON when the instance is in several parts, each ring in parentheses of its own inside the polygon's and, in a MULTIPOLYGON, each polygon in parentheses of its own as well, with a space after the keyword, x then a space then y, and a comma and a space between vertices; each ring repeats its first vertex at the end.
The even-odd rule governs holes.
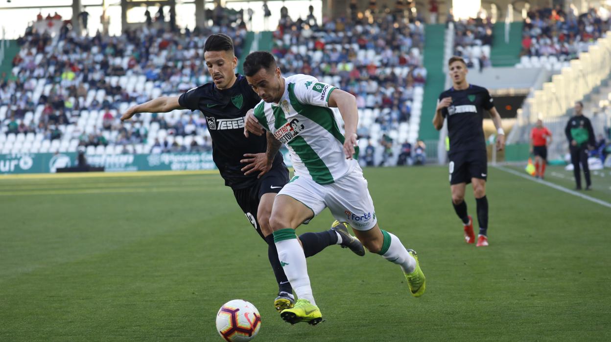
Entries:
POLYGON ((305 177, 293 177, 278 195, 295 198, 309 207, 314 216, 328 207, 335 220, 348 223, 359 231, 368 231, 376 225, 376 213, 367 188, 367 179, 363 177, 360 167, 326 185, 305 177))

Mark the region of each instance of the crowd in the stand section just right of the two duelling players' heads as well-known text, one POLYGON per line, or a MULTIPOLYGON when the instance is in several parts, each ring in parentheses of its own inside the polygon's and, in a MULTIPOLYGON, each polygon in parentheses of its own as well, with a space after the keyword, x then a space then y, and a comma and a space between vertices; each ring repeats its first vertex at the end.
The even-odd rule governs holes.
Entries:
MULTIPOLYGON (((397 130, 411 114, 414 88, 426 82, 422 66, 424 30, 420 21, 381 10, 316 23, 283 15, 274 32, 273 54, 285 75, 304 73, 356 96, 359 109, 381 110, 375 122, 382 132, 397 130)), ((358 134, 369 138, 370 127, 358 134)), ((379 142, 383 146, 392 142, 379 142)))

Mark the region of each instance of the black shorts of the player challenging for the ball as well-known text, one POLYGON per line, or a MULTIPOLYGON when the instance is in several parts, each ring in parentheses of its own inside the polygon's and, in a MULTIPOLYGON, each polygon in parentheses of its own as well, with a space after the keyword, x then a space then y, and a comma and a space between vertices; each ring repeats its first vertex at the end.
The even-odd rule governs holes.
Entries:
POLYGON ((279 193, 282 187, 288 183, 288 180, 287 166, 281 163, 264 174, 252 187, 233 189, 233 196, 235 196, 238 206, 263 239, 265 239, 265 236, 263 236, 261 226, 257 221, 259 201, 266 193, 279 193))

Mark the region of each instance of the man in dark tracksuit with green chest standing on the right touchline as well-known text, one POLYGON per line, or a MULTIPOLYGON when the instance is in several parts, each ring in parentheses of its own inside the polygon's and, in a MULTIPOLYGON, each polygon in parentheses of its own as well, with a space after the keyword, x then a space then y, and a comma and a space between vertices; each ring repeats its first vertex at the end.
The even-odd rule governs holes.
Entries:
POLYGON ((579 164, 584 168, 585 190, 590 190, 592 180, 588 167, 588 150, 596 146, 596 140, 590 119, 584 116, 584 104, 580 101, 575 102, 575 115, 566 123, 565 134, 569 141, 569 151, 571 151, 576 190, 581 190, 579 164))

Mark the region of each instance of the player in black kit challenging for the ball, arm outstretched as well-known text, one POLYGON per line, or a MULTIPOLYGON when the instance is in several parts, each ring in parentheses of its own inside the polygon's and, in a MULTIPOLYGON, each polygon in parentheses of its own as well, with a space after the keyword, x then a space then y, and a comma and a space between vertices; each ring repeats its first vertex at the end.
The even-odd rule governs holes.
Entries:
MULTIPOLYGON (((238 205, 258 234, 268 243, 269 262, 276 275, 279 293, 274 300, 276 310, 293 307, 295 298, 287 276, 280 266, 269 216, 276 194, 288 183, 288 169, 282 155, 266 158, 266 136, 244 136, 244 116, 260 102, 243 75, 235 73, 238 59, 232 39, 213 34, 204 45, 204 59, 213 83, 193 88, 175 97, 159 97, 129 108, 121 117, 124 121, 136 113, 167 113, 172 110, 200 110, 206 117, 212 138, 214 163, 231 187, 238 205)), ((306 232, 299 236, 305 256, 312 256, 333 244, 347 247, 364 255, 362 244, 348 233, 345 225, 334 223, 328 231, 306 232)))

